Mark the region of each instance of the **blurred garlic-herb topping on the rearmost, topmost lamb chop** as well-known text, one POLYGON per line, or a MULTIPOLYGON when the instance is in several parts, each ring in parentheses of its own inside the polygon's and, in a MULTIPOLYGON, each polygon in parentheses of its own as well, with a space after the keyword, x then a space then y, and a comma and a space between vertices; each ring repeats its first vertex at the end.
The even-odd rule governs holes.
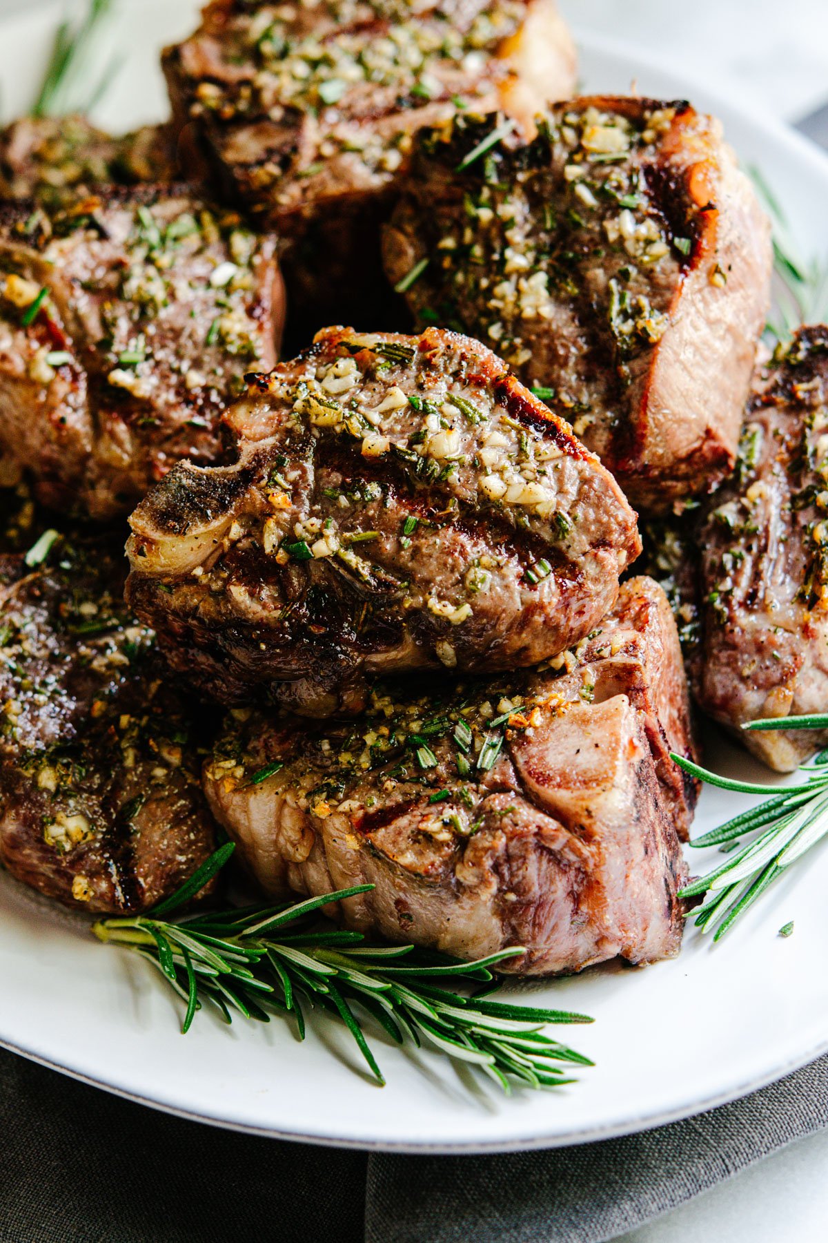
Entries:
MULTIPOLYGON (((520 29, 523 0, 474 6, 418 6, 395 0, 348 0, 310 6, 237 5, 207 36, 214 72, 194 88, 192 117, 218 126, 268 118, 302 121, 305 139, 298 175, 310 180, 325 160, 345 155, 362 175, 385 180, 411 148, 412 119, 431 122, 492 101, 509 77, 502 46, 520 29), (246 66, 240 71, 238 66, 246 66), (376 126, 376 118, 394 117, 376 126)), ((302 185, 286 178, 273 154, 252 174, 251 189, 276 186, 293 206, 302 185)))

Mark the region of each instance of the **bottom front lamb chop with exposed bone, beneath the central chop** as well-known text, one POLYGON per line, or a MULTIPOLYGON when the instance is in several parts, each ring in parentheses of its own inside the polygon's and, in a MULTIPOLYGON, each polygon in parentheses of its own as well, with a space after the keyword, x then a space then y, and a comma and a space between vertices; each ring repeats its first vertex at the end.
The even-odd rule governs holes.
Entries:
POLYGON ((561 672, 377 686, 353 722, 230 713, 205 767, 216 817, 268 894, 376 888, 350 927, 500 970, 672 957, 695 788, 675 626, 650 579, 561 672), (678 779, 677 779, 678 777, 678 779))

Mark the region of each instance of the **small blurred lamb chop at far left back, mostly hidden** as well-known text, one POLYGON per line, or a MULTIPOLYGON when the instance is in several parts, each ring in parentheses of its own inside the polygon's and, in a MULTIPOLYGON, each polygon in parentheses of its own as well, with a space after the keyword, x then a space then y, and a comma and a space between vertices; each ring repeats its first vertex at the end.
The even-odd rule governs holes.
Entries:
POLYGON ((145 126, 113 138, 86 117, 21 117, 0 129, 0 199, 68 206, 102 184, 171 181, 170 126, 145 126))

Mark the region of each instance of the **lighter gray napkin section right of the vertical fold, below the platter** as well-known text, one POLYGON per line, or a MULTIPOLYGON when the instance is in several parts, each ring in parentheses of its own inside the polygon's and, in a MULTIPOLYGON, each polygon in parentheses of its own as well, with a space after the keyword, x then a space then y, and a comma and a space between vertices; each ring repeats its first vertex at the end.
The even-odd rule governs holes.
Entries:
POLYGON ((730 1105, 618 1140, 371 1157, 365 1243, 602 1243, 826 1126, 828 1057, 730 1105))

